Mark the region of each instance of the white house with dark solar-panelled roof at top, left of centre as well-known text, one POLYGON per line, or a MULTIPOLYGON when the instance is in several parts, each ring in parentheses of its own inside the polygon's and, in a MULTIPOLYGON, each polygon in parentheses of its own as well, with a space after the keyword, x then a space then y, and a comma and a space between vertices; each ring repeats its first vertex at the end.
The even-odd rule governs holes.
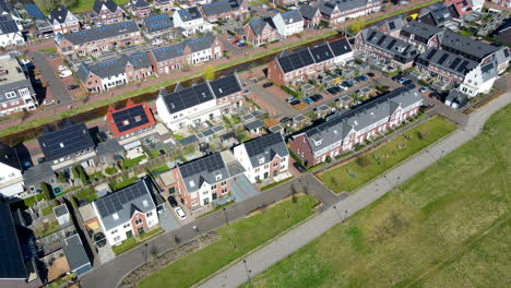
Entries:
POLYGON ((213 25, 204 20, 198 7, 177 10, 173 14, 174 26, 182 29, 182 35, 189 36, 198 32, 211 32, 213 25))

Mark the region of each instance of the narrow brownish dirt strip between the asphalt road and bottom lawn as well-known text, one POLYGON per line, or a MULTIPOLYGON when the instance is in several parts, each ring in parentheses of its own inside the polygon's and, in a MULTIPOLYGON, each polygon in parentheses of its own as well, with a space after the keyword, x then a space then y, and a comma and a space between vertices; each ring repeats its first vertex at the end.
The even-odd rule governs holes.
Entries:
MULTIPOLYGON (((120 283, 120 288, 131 288, 136 287, 136 284, 150 276, 151 274, 157 272, 162 267, 176 262, 182 257, 190 255, 191 253, 209 247, 214 242, 218 241, 221 237, 215 231, 207 232, 202 235, 189 242, 180 244, 179 247, 167 250, 166 252, 153 257, 145 264, 142 264, 131 273, 124 276, 120 283)), ((178 239, 176 239, 178 240, 178 239)), ((156 254, 157 251, 151 252, 151 254, 156 254)))

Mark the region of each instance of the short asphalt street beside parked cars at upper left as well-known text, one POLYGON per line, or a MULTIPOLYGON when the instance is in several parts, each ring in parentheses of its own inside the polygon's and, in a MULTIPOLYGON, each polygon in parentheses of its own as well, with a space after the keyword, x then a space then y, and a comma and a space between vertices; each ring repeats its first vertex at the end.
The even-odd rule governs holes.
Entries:
POLYGON ((60 101, 60 105, 72 103, 73 99, 69 96, 68 89, 63 86, 50 63, 46 61, 45 56, 38 51, 29 52, 28 56, 33 59, 34 65, 40 71, 43 77, 48 82, 48 87, 51 89, 55 100, 60 101))

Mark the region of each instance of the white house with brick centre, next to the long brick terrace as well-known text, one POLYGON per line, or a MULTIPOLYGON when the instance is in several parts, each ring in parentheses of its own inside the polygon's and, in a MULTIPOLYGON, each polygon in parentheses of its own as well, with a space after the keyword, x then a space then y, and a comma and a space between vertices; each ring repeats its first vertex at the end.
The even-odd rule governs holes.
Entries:
POLYGON ((251 183, 266 179, 278 181, 289 167, 289 151, 281 133, 245 142, 235 146, 233 152, 251 183))

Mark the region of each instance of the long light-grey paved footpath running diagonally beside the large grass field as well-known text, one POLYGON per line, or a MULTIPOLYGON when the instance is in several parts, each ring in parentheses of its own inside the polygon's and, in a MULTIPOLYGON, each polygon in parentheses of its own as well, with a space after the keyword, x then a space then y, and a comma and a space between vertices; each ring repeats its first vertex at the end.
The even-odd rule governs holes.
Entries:
POLYGON ((253 277, 271 267, 276 262, 294 253, 341 223, 342 218, 348 217, 371 204, 395 188, 396 184, 415 176, 441 157, 474 139, 479 134, 488 117, 508 104, 511 104, 511 93, 509 89, 504 95, 473 112, 468 117, 464 128, 456 130, 427 151, 417 154, 387 175, 363 187, 355 194, 340 201, 335 204, 336 209, 334 209, 334 206, 329 207, 309 221, 247 256, 246 264, 239 262, 203 283, 200 287, 238 287, 245 284, 249 275, 253 277))

